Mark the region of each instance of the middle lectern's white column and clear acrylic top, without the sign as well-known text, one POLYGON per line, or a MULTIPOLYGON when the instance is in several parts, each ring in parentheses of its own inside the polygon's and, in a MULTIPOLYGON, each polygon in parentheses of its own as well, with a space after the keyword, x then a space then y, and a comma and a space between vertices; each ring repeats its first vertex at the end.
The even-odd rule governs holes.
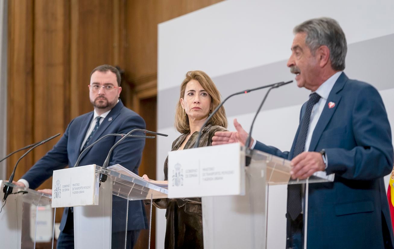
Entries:
MULTIPOLYGON (((125 227, 121 230, 127 231, 129 219, 127 209, 130 201, 152 200, 167 198, 168 190, 147 183, 138 178, 126 176, 96 165, 96 186, 99 186, 99 176, 106 174, 108 179, 99 187, 99 205, 74 207, 74 245, 75 249, 95 248, 109 249, 112 245, 112 205, 113 196, 119 196, 127 200, 125 203, 126 216, 123 218, 125 227)), ((121 202, 123 203, 123 202, 121 202)), ((152 203, 152 201, 151 201, 152 203)), ((152 204, 150 205, 150 216, 147 217, 149 225, 148 248, 151 240, 152 204)), ((125 248, 127 244, 126 233, 118 248, 125 248)), ((145 243, 146 244, 146 243, 145 243)), ((118 249, 116 248, 116 249, 118 249)), ((139 245, 134 248, 140 248, 139 245)), ((142 247, 141 247, 142 248, 142 247)), ((144 247, 146 248, 146 247, 144 247)))

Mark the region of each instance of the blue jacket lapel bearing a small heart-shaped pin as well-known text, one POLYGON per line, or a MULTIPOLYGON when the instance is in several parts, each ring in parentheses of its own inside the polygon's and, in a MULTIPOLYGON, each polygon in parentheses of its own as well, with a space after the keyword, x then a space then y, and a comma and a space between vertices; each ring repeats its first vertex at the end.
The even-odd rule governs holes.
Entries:
POLYGON ((319 121, 316 124, 315 129, 313 130, 312 134, 312 139, 310 141, 309 145, 309 151, 314 151, 316 150, 316 146, 318 145, 318 141, 320 140, 320 137, 323 134, 323 131, 327 127, 327 124, 330 122, 331 118, 333 117, 336 108, 339 106, 339 102, 341 100, 341 95, 338 94, 340 90, 344 87, 344 84, 348 80, 348 77, 346 77, 345 73, 342 73, 338 80, 336 80, 333 89, 331 90, 327 102, 325 103, 325 106, 323 108, 323 112, 320 115, 319 121), (333 102, 335 103, 335 106, 332 108, 329 108, 329 103, 333 102))

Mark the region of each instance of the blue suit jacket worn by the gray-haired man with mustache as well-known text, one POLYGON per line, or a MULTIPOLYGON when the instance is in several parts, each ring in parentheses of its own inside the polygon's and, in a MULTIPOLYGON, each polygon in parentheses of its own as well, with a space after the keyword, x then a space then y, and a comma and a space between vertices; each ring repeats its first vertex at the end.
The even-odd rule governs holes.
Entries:
MULTIPOLYGON (((298 133, 299 128, 290 152, 259 142, 255 149, 290 160, 298 133)), ((326 172, 335 173, 335 180, 309 186, 308 248, 391 247, 383 176, 392 170, 393 147, 386 110, 374 87, 340 75, 310 142, 309 151, 322 149, 327 153, 326 172), (335 103, 331 109, 329 102, 335 103), (388 234, 385 242, 383 233, 388 234)))

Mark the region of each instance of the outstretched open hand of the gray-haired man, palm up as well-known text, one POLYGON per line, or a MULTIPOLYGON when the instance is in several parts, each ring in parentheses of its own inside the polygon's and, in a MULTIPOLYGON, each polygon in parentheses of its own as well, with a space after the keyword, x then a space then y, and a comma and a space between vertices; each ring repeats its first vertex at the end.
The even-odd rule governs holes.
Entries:
MULTIPOLYGON (((242 128, 237 119, 234 119, 234 127, 237 130, 236 132, 215 132, 215 135, 212 137, 212 145, 224 145, 227 143, 241 143, 245 145, 249 134, 242 128)), ((253 145, 253 142, 252 138, 249 147, 253 145)))

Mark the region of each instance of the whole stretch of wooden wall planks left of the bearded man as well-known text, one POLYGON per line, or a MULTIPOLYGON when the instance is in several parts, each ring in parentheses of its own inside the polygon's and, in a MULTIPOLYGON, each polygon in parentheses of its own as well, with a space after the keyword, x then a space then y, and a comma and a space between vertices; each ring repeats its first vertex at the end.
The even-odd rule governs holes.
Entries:
MULTIPOLYGON (((72 118, 93 109, 90 72, 115 58, 114 2, 9 1, 8 151, 63 133, 72 118)), ((32 151, 15 178, 53 145, 32 151)))

